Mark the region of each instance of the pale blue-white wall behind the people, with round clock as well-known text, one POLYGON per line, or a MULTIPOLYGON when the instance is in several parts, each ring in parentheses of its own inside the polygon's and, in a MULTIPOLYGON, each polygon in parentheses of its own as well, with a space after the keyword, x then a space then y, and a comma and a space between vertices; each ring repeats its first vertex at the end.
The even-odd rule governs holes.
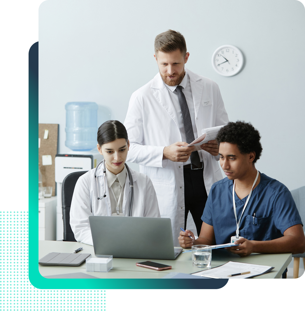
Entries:
POLYGON ((59 152, 70 151, 66 102, 99 104, 98 126, 109 118, 124 122, 130 95, 158 72, 154 38, 167 29, 184 35, 186 67, 218 83, 230 121, 251 121, 260 131, 257 168, 290 190, 305 185, 305 9, 295 0, 44 1, 39 123, 59 123, 59 152), (223 44, 244 53, 236 76, 212 68, 212 53, 223 44))

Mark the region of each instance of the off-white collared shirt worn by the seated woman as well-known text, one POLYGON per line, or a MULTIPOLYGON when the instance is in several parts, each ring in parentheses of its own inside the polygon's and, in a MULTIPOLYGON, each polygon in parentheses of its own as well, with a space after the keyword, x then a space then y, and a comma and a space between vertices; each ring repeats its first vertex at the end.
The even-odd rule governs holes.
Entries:
POLYGON ((106 178, 107 178, 107 184, 109 188, 109 197, 110 197, 110 204, 111 204, 111 213, 116 213, 116 203, 120 197, 121 194, 121 199, 119 202, 119 212, 122 213, 122 202, 123 202, 123 197, 124 197, 124 185, 127 177, 127 169, 126 166, 124 165, 124 169, 121 171, 121 173, 115 175, 111 173, 106 167, 106 178), (115 194, 115 197, 113 197, 112 191, 110 190, 110 187, 113 190, 113 193, 115 194))

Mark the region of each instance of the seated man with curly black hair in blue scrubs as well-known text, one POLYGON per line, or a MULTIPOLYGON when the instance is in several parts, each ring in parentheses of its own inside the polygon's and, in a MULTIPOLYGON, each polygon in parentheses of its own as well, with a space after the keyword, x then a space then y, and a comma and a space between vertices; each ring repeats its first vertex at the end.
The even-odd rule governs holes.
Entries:
POLYGON ((259 132, 250 123, 229 122, 216 140, 227 178, 212 185, 198 239, 181 231, 180 246, 234 242, 239 245, 226 249, 241 257, 303 253, 303 224, 290 191, 255 168, 262 153, 259 132))

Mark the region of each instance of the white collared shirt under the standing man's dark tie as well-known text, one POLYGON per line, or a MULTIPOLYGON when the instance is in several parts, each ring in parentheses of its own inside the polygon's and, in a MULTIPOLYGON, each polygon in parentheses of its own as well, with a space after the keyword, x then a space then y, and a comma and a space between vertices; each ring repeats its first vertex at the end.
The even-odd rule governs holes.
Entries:
MULTIPOLYGON (((163 81, 164 83, 164 81, 163 81)), ((182 142, 186 142, 186 137, 185 137, 185 131, 184 131, 184 123, 183 123, 183 118, 182 118, 182 113, 181 113, 181 108, 178 100, 178 92, 176 91, 176 85, 175 86, 168 86, 167 84, 164 83, 164 85, 168 88, 169 94, 171 97, 171 101, 173 102, 173 105, 176 110, 177 118, 178 118, 178 124, 180 128, 180 133, 181 133, 181 139, 182 142)), ((194 138, 198 138, 197 134, 197 128, 196 128, 196 123, 195 123, 195 106, 194 106, 194 101, 193 101, 193 96, 192 96, 192 91, 191 91, 191 84, 189 82, 189 75, 187 71, 185 72, 184 78, 182 79, 181 83, 179 84, 182 86, 182 92, 185 96, 186 102, 189 107, 189 114, 192 120, 192 126, 193 126, 193 132, 194 132, 194 138)), ((202 162, 202 155, 201 152, 198 152, 200 161, 202 162)), ((183 165, 187 165, 191 163, 191 158, 189 157, 189 160, 183 163, 183 165)))

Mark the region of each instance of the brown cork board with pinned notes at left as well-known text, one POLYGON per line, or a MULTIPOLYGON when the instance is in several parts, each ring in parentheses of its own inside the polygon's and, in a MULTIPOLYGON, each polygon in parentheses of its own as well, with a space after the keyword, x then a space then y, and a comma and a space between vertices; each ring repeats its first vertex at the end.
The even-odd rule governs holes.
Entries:
POLYGON ((55 195, 55 156, 57 154, 58 124, 38 124, 38 137, 40 148, 38 148, 38 165, 42 174, 43 187, 53 187, 52 196, 55 195), (44 139, 44 130, 48 130, 48 138, 44 139), (50 155, 52 165, 42 165, 42 156, 50 155))

